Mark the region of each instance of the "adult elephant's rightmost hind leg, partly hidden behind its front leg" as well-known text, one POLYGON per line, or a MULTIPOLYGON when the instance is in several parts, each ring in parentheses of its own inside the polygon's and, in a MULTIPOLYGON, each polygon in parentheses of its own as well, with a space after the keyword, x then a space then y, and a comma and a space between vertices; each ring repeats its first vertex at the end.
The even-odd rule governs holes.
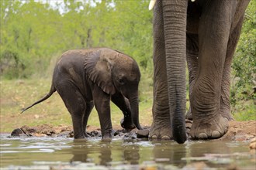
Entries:
POLYGON ((227 44, 227 56, 223 70, 223 79, 221 83, 220 111, 222 116, 226 117, 229 121, 234 120, 230 109, 230 68, 234 56, 234 51, 240 36, 243 20, 244 17, 240 17, 239 22, 230 33, 230 39, 227 44))

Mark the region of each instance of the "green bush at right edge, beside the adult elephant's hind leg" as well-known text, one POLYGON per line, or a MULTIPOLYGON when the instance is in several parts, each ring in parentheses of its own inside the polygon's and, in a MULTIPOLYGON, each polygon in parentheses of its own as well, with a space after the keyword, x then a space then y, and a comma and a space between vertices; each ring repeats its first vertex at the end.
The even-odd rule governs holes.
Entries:
MULTIPOLYGON (((233 112, 238 112, 237 118, 244 120, 245 117, 250 117, 256 120, 255 104, 256 100, 256 1, 252 0, 246 10, 244 25, 240 40, 237 44, 237 50, 234 54, 232 63, 231 75, 231 104, 234 107, 233 112), (248 100, 248 101, 242 101, 248 100), (246 103, 250 104, 246 104, 246 103), (237 110, 247 114, 239 113, 237 110), (239 115, 244 115, 243 117, 239 115)), ((235 115, 236 117, 236 115, 235 115)))

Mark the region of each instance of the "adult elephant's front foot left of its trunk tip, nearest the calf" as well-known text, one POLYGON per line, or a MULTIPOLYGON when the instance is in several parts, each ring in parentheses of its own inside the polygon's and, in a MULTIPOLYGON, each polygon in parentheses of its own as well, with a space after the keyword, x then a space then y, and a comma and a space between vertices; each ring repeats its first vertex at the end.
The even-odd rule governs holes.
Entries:
POLYGON ((167 120, 164 121, 156 121, 154 120, 150 132, 149 139, 150 140, 171 140, 171 124, 167 120))

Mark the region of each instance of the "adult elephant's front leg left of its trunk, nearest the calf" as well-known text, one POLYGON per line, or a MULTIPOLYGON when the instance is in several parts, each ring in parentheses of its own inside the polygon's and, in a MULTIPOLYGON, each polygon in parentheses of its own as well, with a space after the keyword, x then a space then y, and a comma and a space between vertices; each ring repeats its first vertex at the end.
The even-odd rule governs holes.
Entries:
POLYGON ((154 6, 154 101, 153 122, 149 138, 171 139, 171 121, 168 105, 164 22, 161 1, 154 6))

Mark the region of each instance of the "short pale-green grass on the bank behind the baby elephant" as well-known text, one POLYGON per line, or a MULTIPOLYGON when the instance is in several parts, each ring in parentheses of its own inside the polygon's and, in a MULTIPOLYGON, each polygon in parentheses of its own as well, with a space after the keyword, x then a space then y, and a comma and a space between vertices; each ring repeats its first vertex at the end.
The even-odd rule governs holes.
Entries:
MULTIPOLYGON (((48 93, 50 83, 50 78, 1 80, 0 132, 12 132, 13 129, 21 128, 22 125, 72 125, 71 116, 58 93, 54 93, 49 99, 20 114, 23 107, 33 104, 48 93)), ((143 73, 140 80, 140 124, 142 125, 152 123, 152 90, 151 76, 145 76, 143 73)), ((189 108, 189 102, 187 102, 187 108, 189 108)), ((232 108, 232 113, 237 121, 256 120, 254 100, 240 100, 232 108)), ((111 104, 111 116, 112 125, 119 125, 123 114, 114 104, 111 104)), ((89 117, 88 125, 99 127, 99 117, 95 108, 89 117)))

